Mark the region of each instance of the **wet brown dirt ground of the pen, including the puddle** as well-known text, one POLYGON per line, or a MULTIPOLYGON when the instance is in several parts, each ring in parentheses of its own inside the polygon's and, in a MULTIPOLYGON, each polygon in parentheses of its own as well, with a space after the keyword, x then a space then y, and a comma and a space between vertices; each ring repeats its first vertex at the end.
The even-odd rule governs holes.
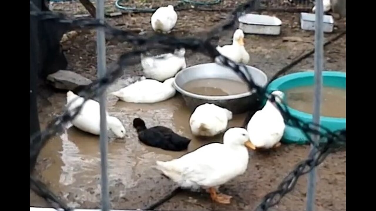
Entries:
MULTIPOLYGON (((106 5, 113 6, 113 1, 106 5)), ((79 2, 54 3, 53 8, 68 14, 82 14, 79 2), (74 8, 74 9, 73 9, 74 8)), ((246 35, 246 49, 250 54, 249 65, 255 66, 271 77, 280 68, 314 48, 314 32, 300 29, 299 14, 263 12, 282 20, 279 36, 246 35), (293 37, 286 38, 286 37, 293 37)), ((226 12, 180 11, 179 20, 173 30, 176 36, 195 35, 214 27, 226 17, 226 12), (199 18, 198 18, 199 17, 199 18)), ((150 13, 124 14, 108 18, 113 26, 134 32, 152 33, 150 13)), ((346 30, 346 20, 335 20, 333 33, 325 34, 330 39, 346 30)), ((219 44, 229 44, 232 33, 221 37, 219 44)), ((63 44, 68 59, 68 68, 94 80, 96 78, 95 31, 79 31, 79 35, 63 44)), ((108 41, 107 62, 115 62, 118 56, 131 50, 130 44, 108 41)), ((346 35, 324 49, 325 68, 346 72, 346 35)), ((186 57, 187 66, 210 62, 202 54, 186 57)), ((289 72, 313 69, 313 55, 304 59, 289 72)), ((123 76, 109 91, 126 86, 141 76, 141 65, 124 70, 123 76)), ((59 115, 65 104, 65 92, 59 92, 41 84, 38 107, 42 127, 54 116, 59 115)), ((108 110, 124 124, 127 135, 124 140, 109 143, 109 182, 111 205, 114 209, 142 209, 168 194, 176 185, 153 170, 155 160, 170 160, 186 152, 167 152, 150 148, 138 142, 132 120, 141 117, 147 126, 164 125, 191 137, 188 121, 190 111, 184 107, 179 94, 165 102, 151 105, 116 102, 108 97, 108 110)), ((241 126, 244 115, 236 115, 230 127, 241 126)), ((218 139, 218 138, 216 138, 218 139)), ((188 151, 193 151, 212 140, 196 140, 188 151)), ((252 210, 261 198, 273 191, 290 172, 294 164, 307 157, 309 146, 282 145, 265 153, 253 153, 247 172, 221 187, 221 191, 233 197, 230 205, 212 203, 206 193, 184 191, 162 204, 159 210, 252 210)), ((65 133, 52 138, 38 158, 36 172, 51 190, 70 206, 76 208, 99 208, 100 206, 100 154, 99 137, 69 128, 65 133)), ((307 177, 302 176, 295 189, 274 207, 275 210, 305 210, 307 177)), ((346 210, 346 152, 329 155, 318 167, 317 211, 346 210)), ((47 204, 30 191, 30 206, 47 204)))

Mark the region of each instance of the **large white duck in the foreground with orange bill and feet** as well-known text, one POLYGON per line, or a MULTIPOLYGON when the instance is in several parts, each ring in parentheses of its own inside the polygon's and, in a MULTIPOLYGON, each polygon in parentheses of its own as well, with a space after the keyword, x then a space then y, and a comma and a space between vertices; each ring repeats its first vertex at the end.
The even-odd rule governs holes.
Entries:
POLYGON ((171 161, 156 161, 156 169, 181 188, 205 188, 218 203, 230 203, 232 196, 218 193, 217 188, 247 170, 250 147, 247 130, 230 128, 223 143, 210 143, 171 161))

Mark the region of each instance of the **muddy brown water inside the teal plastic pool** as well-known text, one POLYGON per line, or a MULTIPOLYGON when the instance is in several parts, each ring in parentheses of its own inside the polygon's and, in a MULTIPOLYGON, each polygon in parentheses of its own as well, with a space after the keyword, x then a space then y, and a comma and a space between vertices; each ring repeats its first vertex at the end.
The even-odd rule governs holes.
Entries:
MULTIPOLYGON (((285 91, 287 104, 296 110, 312 113, 314 87, 304 86, 285 91)), ((346 89, 323 87, 321 89, 321 115, 346 118, 346 89)))

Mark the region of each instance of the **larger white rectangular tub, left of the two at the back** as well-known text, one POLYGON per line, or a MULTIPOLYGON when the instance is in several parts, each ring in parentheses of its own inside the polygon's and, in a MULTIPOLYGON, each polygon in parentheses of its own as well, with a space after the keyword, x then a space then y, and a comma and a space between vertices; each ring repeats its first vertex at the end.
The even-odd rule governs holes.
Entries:
POLYGON ((282 21, 269 15, 245 14, 239 17, 239 29, 247 34, 279 35, 282 21))

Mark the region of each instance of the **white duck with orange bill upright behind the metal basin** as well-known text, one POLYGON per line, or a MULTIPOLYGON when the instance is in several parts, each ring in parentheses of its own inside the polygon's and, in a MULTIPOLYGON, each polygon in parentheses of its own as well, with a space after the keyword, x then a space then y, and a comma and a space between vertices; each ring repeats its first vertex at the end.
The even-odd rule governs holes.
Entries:
POLYGON ((244 48, 244 33, 241 29, 235 30, 231 45, 224 45, 223 47, 217 46, 216 49, 220 54, 234 62, 244 64, 249 62, 249 54, 246 48, 244 48))

